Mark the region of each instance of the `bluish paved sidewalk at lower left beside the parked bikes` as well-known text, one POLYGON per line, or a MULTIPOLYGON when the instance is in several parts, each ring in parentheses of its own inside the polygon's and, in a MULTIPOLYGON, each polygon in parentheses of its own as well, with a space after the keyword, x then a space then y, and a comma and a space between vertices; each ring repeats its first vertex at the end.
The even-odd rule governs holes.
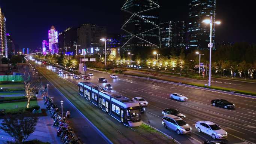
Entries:
MULTIPOLYGON (((37 96, 37 102, 41 109, 46 109, 44 105, 41 94, 37 96)), ((36 130, 28 137, 28 140, 40 140, 43 142, 49 142, 51 144, 62 144, 60 138, 57 137, 57 129, 53 127, 53 120, 48 110, 46 110, 47 116, 39 117, 37 125, 35 126, 36 130)), ((0 120, 0 123, 2 120, 0 120)), ((9 134, 0 130, 0 144, 3 144, 6 141, 14 141, 9 134)))

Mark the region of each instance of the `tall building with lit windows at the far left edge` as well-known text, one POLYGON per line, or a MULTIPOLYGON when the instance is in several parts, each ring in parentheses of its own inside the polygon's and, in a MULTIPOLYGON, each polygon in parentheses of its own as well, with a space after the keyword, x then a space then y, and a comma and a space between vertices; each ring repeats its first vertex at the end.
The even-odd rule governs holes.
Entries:
POLYGON ((8 56, 7 39, 6 39, 6 19, 0 8, 0 56, 8 56))

